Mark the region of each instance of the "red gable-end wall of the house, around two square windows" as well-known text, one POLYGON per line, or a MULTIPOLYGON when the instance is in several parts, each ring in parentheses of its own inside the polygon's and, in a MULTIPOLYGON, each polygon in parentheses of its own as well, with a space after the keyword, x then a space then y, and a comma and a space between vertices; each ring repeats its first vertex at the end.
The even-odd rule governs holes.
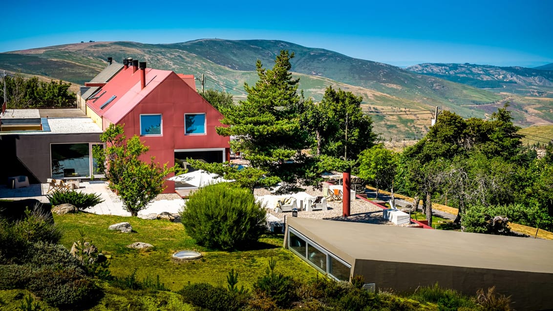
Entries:
MULTIPOLYGON (((148 94, 119 124, 124 124, 125 135, 140 136, 150 147, 147 159, 155 156, 161 165, 175 163, 175 149, 228 148, 229 138, 220 136, 215 126, 222 126, 222 115, 205 101, 194 89, 186 85, 175 73, 171 73, 148 94), (161 114, 161 136, 140 136, 140 114, 161 114), (205 113, 206 134, 184 135, 184 114, 205 113)), ((164 193, 175 191, 174 182, 166 182, 164 193)))

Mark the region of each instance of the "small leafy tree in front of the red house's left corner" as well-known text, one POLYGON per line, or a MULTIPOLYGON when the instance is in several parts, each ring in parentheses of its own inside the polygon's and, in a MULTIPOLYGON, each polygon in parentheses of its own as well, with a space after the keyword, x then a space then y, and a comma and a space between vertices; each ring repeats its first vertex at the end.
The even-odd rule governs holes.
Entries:
POLYGON ((95 146, 92 150, 98 171, 104 172, 109 187, 121 196, 124 208, 133 216, 163 192, 166 176, 179 170, 167 164, 160 167, 154 157, 149 163, 140 160, 149 147, 137 135, 127 140, 121 125, 110 124, 100 140, 106 149, 95 146))

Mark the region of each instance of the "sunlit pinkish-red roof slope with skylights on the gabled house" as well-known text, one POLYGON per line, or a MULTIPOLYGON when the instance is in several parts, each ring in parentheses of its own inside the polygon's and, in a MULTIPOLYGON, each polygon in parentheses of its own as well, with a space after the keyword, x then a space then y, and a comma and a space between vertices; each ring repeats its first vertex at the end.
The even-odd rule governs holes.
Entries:
POLYGON ((133 67, 120 71, 105 86, 86 101, 86 105, 95 113, 118 123, 142 101, 150 92, 160 85, 173 71, 145 69, 146 86, 141 89, 140 70, 133 72, 133 67), (112 99, 112 97, 114 97, 112 99), (106 104, 110 99, 111 102, 106 104), (104 104, 105 107, 101 108, 104 104))

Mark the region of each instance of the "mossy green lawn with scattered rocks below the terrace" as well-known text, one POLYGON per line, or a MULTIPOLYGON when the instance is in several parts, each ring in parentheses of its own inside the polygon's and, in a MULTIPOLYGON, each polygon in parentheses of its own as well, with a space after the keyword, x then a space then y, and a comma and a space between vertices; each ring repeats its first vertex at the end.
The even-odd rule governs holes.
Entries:
POLYGON ((239 273, 238 286, 251 288, 257 277, 263 275, 268 260, 277 260, 276 271, 295 278, 316 277, 317 271, 306 262, 282 247, 283 235, 266 235, 254 250, 213 251, 197 246, 186 235, 180 223, 164 220, 144 220, 135 217, 118 217, 88 213, 55 215, 55 222, 64 230, 61 243, 68 249, 80 239, 79 230, 85 239, 110 257, 109 270, 114 276, 129 275, 138 269, 137 278, 160 276, 161 282, 172 290, 182 288, 187 282, 208 282, 226 286, 228 271, 234 268, 239 273), (108 230, 108 226, 129 222, 132 233, 108 230), (134 250, 126 245, 145 242, 154 245, 153 250, 134 250), (180 250, 196 250, 204 257, 198 261, 176 263, 171 255, 180 250))

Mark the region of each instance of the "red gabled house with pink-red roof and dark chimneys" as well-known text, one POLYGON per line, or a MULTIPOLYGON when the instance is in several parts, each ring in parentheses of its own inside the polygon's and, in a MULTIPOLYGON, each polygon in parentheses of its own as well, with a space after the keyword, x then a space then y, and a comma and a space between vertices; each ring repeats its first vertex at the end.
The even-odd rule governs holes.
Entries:
MULTIPOLYGON (((192 76, 146 68, 145 62, 139 66, 137 60, 123 65, 88 97, 88 117, 103 130, 112 123, 124 125, 125 135, 140 136, 150 147, 148 157, 162 165, 186 167, 187 158, 228 160, 229 138, 215 131, 223 116, 196 92, 192 76)), ((175 191, 174 182, 166 186, 164 193, 175 191)))

